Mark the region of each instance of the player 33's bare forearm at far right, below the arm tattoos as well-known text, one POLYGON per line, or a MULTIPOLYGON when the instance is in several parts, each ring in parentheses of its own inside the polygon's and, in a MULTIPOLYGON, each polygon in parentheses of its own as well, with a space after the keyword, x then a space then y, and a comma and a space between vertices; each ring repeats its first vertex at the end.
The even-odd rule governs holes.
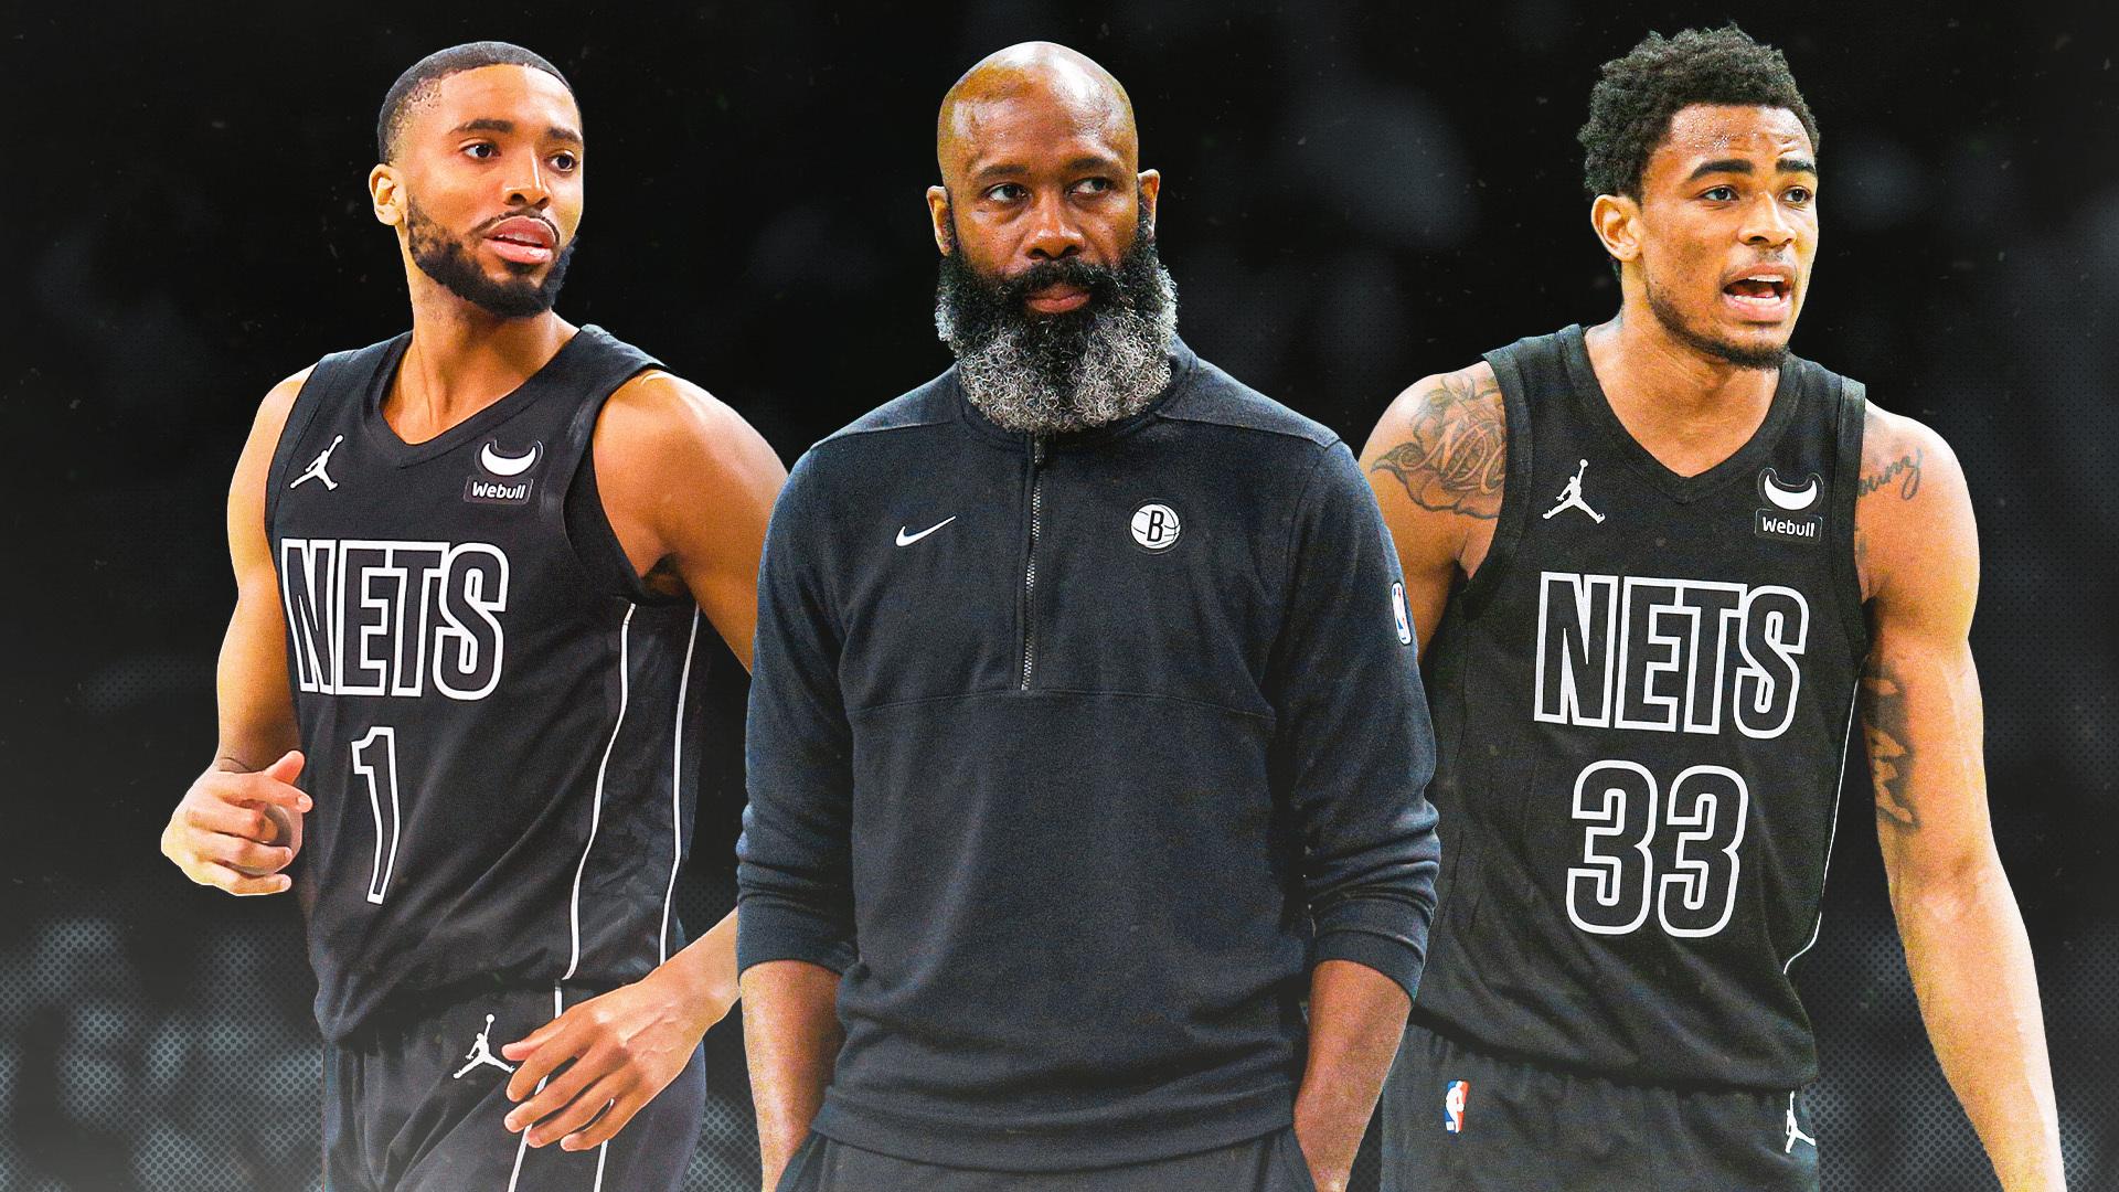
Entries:
POLYGON ((2000 861, 1890 895, 1935 1056, 2002 1188, 2064 1188, 2038 974, 2000 861))

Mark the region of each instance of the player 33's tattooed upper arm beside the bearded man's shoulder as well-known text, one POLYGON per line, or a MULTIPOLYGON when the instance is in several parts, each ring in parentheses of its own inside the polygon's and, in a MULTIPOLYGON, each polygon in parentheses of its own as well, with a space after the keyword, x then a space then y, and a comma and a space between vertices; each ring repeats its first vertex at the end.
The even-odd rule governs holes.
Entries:
POLYGON ((1494 541, 1509 469, 1500 384, 1488 363, 1424 378, 1399 395, 1360 450, 1360 471, 1384 509, 1405 568, 1405 602, 1420 649, 1494 541))

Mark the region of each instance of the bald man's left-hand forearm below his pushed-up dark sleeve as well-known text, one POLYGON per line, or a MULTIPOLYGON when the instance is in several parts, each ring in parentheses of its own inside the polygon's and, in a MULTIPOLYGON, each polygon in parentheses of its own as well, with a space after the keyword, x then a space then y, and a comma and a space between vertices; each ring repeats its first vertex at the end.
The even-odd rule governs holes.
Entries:
POLYGON ((839 974, 807 961, 765 961, 744 969, 744 1054, 759 1114, 765 1188, 809 1135, 839 1056, 839 974))

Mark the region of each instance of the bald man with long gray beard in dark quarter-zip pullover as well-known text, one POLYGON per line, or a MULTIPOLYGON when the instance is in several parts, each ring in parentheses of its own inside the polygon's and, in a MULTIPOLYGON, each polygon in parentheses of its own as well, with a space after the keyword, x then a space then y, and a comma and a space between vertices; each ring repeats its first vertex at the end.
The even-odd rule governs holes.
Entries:
POLYGON ((937 157, 958 363, 803 456, 759 579, 765 1186, 1343 1188, 1439 857, 1375 501, 1176 339, 1100 66, 987 57, 937 157))

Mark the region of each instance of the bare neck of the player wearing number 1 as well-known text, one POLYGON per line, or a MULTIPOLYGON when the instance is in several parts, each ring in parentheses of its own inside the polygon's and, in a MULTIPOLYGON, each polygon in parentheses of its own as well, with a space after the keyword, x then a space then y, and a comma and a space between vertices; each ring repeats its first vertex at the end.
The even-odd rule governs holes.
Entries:
POLYGON ((384 418, 407 443, 441 435, 515 392, 574 337, 553 312, 498 318, 411 271, 411 346, 384 397, 384 418))

